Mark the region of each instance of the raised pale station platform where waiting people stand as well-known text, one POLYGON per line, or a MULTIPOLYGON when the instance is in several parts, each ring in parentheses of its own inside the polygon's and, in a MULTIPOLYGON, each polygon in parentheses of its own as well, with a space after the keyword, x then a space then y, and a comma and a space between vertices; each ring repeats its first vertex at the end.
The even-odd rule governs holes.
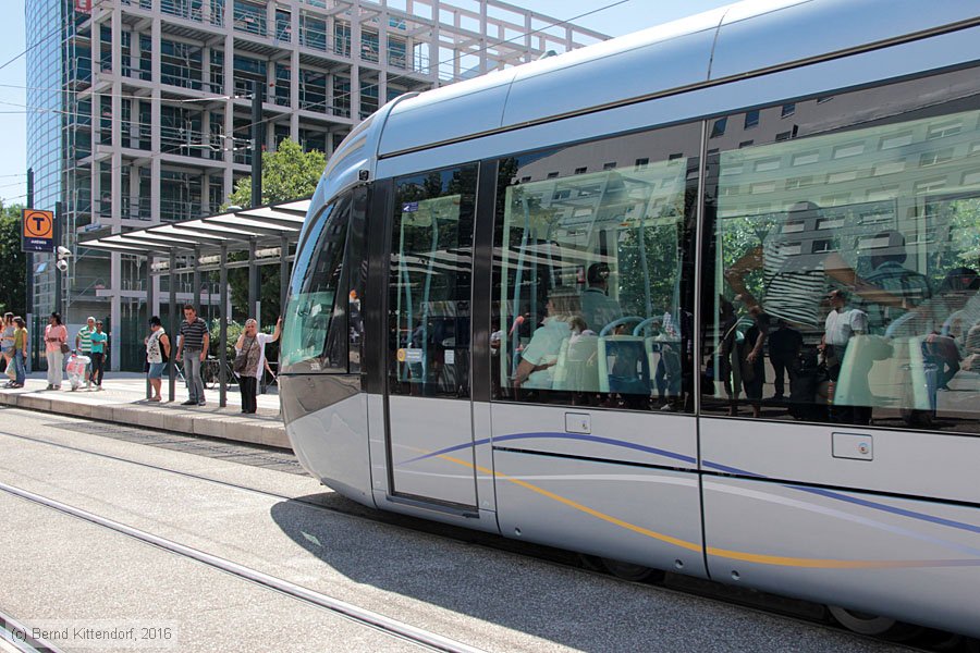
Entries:
POLYGON ((72 391, 68 379, 61 390, 46 387, 45 373, 33 372, 23 389, 0 390, 0 406, 291 448, 279 415, 279 395, 274 385, 258 395, 255 415, 242 415, 237 385, 229 386, 224 408, 218 406, 217 387, 205 389, 207 405, 182 406, 187 391, 181 382, 176 384, 174 402, 168 402, 166 379, 164 401, 148 402, 146 378, 135 372, 110 372, 102 381, 101 391, 85 390, 84 386, 72 391))

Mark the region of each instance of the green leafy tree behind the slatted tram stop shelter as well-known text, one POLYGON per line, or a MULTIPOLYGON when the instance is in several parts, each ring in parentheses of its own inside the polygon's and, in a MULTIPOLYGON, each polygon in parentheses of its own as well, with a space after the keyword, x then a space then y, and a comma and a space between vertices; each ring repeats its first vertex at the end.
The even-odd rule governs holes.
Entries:
MULTIPOLYGON (((309 197, 317 189, 320 175, 327 164, 327 157, 317 150, 304 152, 295 140, 286 138, 279 144, 274 152, 262 152, 262 198, 261 205, 286 201, 299 197, 309 197)), ((229 196, 229 206, 252 206, 252 177, 243 177, 229 196)), ((283 256, 285 252, 283 252, 283 256)), ((245 257, 238 254, 233 260, 245 257)), ((259 322, 262 326, 271 326, 282 312, 279 306, 279 266, 260 268, 259 297, 262 301, 259 322)), ((229 285, 234 306, 248 304, 248 269, 233 268, 229 270, 229 285)), ((247 316, 253 317, 253 316, 247 316)))

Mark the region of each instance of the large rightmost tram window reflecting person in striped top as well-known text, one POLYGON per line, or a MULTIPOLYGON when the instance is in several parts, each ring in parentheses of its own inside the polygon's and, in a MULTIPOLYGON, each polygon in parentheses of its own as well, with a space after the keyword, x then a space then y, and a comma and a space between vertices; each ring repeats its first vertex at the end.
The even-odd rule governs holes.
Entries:
POLYGON ((708 160, 702 407, 977 433, 977 71, 833 99, 708 160))

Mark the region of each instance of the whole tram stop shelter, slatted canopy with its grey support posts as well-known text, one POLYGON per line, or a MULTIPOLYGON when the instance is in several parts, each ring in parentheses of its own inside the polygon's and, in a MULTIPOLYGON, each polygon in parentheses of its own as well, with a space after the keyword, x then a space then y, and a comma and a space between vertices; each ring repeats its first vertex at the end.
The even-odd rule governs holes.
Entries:
MULTIPOLYGON (((259 267, 278 264, 280 267, 280 306, 285 306, 290 280, 290 262, 294 255, 291 249, 299 239, 299 231, 309 209, 309 199, 295 199, 285 202, 234 209, 224 213, 186 220, 168 222, 147 229, 112 234, 90 241, 79 241, 79 247, 90 247, 105 251, 114 251, 127 256, 146 259, 147 273, 147 310, 151 311, 154 298, 154 276, 169 278, 169 316, 161 316, 167 331, 173 337, 180 331, 183 315, 177 311, 175 275, 193 276, 192 288, 194 304, 200 306, 203 272, 219 272, 219 323, 220 338, 218 346, 219 406, 228 405, 228 270, 230 268, 248 268, 248 315, 255 316, 259 307, 259 267), (229 255, 247 252, 248 258, 229 260, 229 255), (181 267, 179 268, 179 261, 181 267)), ((176 341, 172 341, 176 346, 176 341)), ((168 364, 170 380, 170 401, 175 398, 176 368, 173 356, 168 364)), ((149 397, 147 381, 147 397, 149 397)))

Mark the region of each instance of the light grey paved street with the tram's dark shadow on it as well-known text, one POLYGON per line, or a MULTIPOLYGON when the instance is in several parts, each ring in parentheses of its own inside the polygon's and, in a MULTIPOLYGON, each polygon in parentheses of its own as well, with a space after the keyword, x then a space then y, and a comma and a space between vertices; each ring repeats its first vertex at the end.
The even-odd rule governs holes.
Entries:
MULTIPOLYGON (((267 457, 265 465, 268 449, 253 460, 201 456, 180 443, 147 446, 99 434, 76 418, 11 408, 0 409, 0 483, 479 649, 892 650, 789 618, 366 519, 362 515, 371 512, 281 460, 267 457)), ((7 525, 0 550, 9 554, 0 557, 0 609, 27 625, 164 624, 181 651, 416 649, 5 492, 0 510, 7 525)))

